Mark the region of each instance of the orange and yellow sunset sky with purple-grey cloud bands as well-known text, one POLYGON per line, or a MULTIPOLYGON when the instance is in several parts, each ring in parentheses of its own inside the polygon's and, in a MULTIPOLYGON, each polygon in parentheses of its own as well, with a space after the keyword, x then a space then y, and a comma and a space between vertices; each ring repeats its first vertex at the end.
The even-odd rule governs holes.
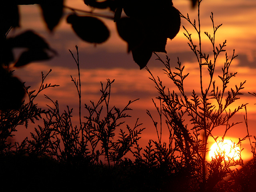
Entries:
MULTIPOLYGON (((72 8, 88 10, 84 5, 83 0, 66 0, 65 4, 72 8)), ((188 0, 173 0, 174 6, 184 15, 188 13, 190 18, 195 18, 197 9, 192 9, 188 0)), ((90 10, 90 9, 89 9, 90 10)), ((157 91, 154 84, 148 79, 149 74, 146 69, 139 69, 139 66, 133 61, 132 54, 127 54, 127 44, 116 32, 116 26, 112 20, 102 19, 110 29, 110 38, 107 42, 95 46, 83 42, 73 32, 70 24, 66 23, 66 16, 70 10, 65 10, 65 17, 61 20, 53 33, 46 30, 45 24, 42 21, 41 12, 38 6, 20 6, 21 28, 10 33, 10 36, 19 34, 20 32, 32 29, 43 36, 50 46, 58 52, 58 56, 46 62, 36 62, 29 64, 26 67, 18 68, 15 75, 20 80, 26 82, 27 86, 32 86, 32 89, 38 89, 41 81, 41 71, 46 74, 50 69, 52 72, 47 78, 46 83, 59 84, 60 87, 49 88, 45 90, 38 98, 37 102, 43 108, 46 104, 50 104, 44 98, 43 94, 49 96, 52 100, 58 100, 60 108, 66 109, 66 105, 74 108, 74 121, 78 114, 78 96, 74 83, 71 82, 70 75, 77 77, 77 67, 70 55, 70 49, 75 55, 75 45, 79 47, 80 69, 82 80, 82 103, 89 103, 90 100, 96 101, 100 95, 100 81, 106 84, 106 79, 115 79, 112 86, 112 96, 110 103, 117 107, 124 107, 129 100, 140 100, 133 103, 130 107, 133 111, 130 113, 131 118, 128 123, 132 126, 137 118, 140 118, 140 123, 146 127, 142 135, 142 141, 148 141, 150 138, 156 138, 156 132, 150 118, 146 114, 146 110, 154 113, 154 104, 152 98, 157 96, 157 91)), ((210 53, 211 45, 203 32, 207 31, 212 34, 212 23, 210 20, 211 12, 214 13, 215 25, 223 24, 218 30, 216 36, 217 44, 227 40, 226 51, 231 58, 233 49, 235 49, 238 57, 232 63, 230 68, 232 72, 238 72, 235 78, 230 81, 230 86, 234 88, 240 82, 246 80, 244 95, 238 102, 232 106, 236 108, 242 103, 248 103, 248 121, 249 131, 251 135, 256 135, 256 97, 251 96, 248 92, 256 92, 256 1, 255 0, 203 0, 201 4, 201 25, 202 25, 202 47, 204 52, 210 53)), ((104 12, 102 12, 104 14, 104 12)), ((106 14, 109 14, 106 12, 106 14)), ((184 25, 196 42, 195 31, 189 26, 188 22, 182 19, 184 25)), ((186 92, 190 95, 192 90, 199 90, 199 68, 196 63, 193 53, 188 47, 188 40, 183 35, 183 28, 173 40, 168 40, 166 45, 167 55, 171 58, 173 66, 177 64, 177 57, 185 65, 185 72, 189 72, 187 80, 185 80, 186 92)), ((165 59, 165 54, 159 54, 165 59)), ((222 54, 219 58, 219 63, 216 66, 216 72, 221 70, 224 64, 225 55, 222 54)), ((156 61, 156 56, 152 55, 148 63, 148 68, 154 76, 160 76, 165 85, 170 90, 176 90, 174 84, 170 82, 164 75, 162 69, 163 64, 156 61)), ((216 75, 217 79, 217 75, 216 75)), ((230 87, 229 87, 230 89, 230 87)), ((244 110, 241 110, 235 117, 235 120, 243 121, 244 110)), ((157 116, 156 116, 157 118, 157 116)), ((216 136, 222 136, 224 130, 217 128, 216 136)), ((226 139, 231 138, 234 142, 239 138, 246 136, 246 126, 244 122, 235 126, 228 132, 226 139)), ((166 135, 168 137, 168 135, 166 135)), ((250 148, 248 141, 244 142, 243 147, 244 159, 250 158, 250 148)))

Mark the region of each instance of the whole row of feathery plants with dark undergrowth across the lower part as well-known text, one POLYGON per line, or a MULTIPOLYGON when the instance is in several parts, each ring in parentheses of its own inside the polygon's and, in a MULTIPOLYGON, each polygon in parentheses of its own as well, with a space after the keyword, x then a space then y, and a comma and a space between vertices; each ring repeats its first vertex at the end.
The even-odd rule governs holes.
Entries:
MULTIPOLYGON (((87 4, 102 8, 110 5, 106 6, 105 2, 111 1, 85 1, 87 4)), ((42 72, 42 84, 38 91, 30 91, 29 86, 22 84, 28 100, 23 101, 18 110, 0 110, 1 189, 124 192, 253 191, 256 154, 255 142, 251 141, 248 131, 246 104, 234 110, 229 108, 230 104, 239 99, 245 82, 228 90, 230 79, 237 74, 230 72, 230 65, 236 55, 233 52, 229 58, 225 53, 223 66, 217 65, 220 63, 217 62, 220 60, 220 54, 226 52, 226 40, 222 44, 216 44, 216 32, 221 25, 214 24, 213 14, 210 15, 213 33, 204 32, 212 44, 213 52, 210 55, 202 50, 204 42, 200 28, 201 2, 198 1, 197 20, 191 20, 188 15, 180 13, 181 18, 195 29, 199 42, 198 45, 195 44, 192 34, 183 27, 188 45, 198 61, 200 91, 193 90, 190 95, 187 94, 185 84, 189 74, 185 73, 186 68, 182 66, 179 58, 178 65, 172 67, 168 56, 166 61, 163 61, 154 52, 157 60, 164 65, 164 73, 178 88, 178 92, 166 88, 161 79, 155 78, 146 67, 159 94, 156 98, 159 104, 153 99, 159 120, 155 120, 152 113, 147 111, 156 129, 156 140, 150 139, 146 148, 143 148, 139 140, 145 128, 141 128, 142 124, 138 119, 133 126, 125 126, 126 118, 130 117, 130 105, 136 100, 129 101, 122 109, 110 106, 111 86, 114 80, 108 79, 106 85, 100 83, 100 98, 97 102, 91 101, 90 104, 84 105, 87 114, 82 117, 80 62, 76 46, 77 57, 71 51, 70 53, 78 68, 78 77, 71 76, 71 80, 79 98, 79 125, 73 125, 73 109, 67 106, 66 110, 61 112, 58 102, 48 96, 46 99, 50 100, 52 105, 48 105, 47 110, 39 108, 34 103, 35 98, 44 89, 58 86, 44 83, 51 70, 46 75, 42 72), (222 73, 216 74, 216 68, 220 67, 222 73), (208 72, 208 81, 204 71, 208 72), (217 84, 218 78, 220 84, 217 84), (216 143, 219 143, 218 140, 223 141, 227 132, 240 123, 232 122, 232 118, 242 109, 246 111, 244 120, 248 135, 234 143, 233 148, 240 146, 237 151, 239 159, 226 158, 225 151, 219 150, 210 162, 207 161, 209 138, 213 138, 216 143), (42 124, 31 131, 30 137, 26 137, 22 142, 12 142, 11 138, 15 136, 18 128, 29 128, 30 123, 35 124, 37 120, 41 120, 42 124), (219 139, 214 136, 213 130, 220 126, 224 128, 224 135, 219 139), (167 129, 169 133, 168 140, 162 137, 163 129, 167 129), (250 140, 253 159, 245 165, 241 155, 241 143, 246 138, 250 140), (128 154, 132 154, 134 160, 131 160, 128 154), (242 166, 242 169, 233 170, 232 167, 236 165, 242 166), (229 179, 225 180, 227 176, 229 179)), ((139 14, 136 10, 128 10, 126 12, 130 19, 133 14, 139 14)), ((48 20, 48 16, 45 17, 45 20, 48 20)), ((74 19, 76 16, 72 17, 74 19)), ((58 23, 57 20, 54 23, 58 23)), ((54 23, 48 27, 53 29, 54 23)), ((33 35, 32 37, 38 38, 33 35)), ((132 44, 128 42, 130 43, 132 44)), ((46 44, 43 47, 49 48, 46 44)), ((130 49, 132 50, 132 47, 130 49)), ((144 57, 143 54, 142 56, 144 57)), ((255 93, 253 95, 256 96, 255 93)), ((255 137, 254 139, 256 140, 255 137)))

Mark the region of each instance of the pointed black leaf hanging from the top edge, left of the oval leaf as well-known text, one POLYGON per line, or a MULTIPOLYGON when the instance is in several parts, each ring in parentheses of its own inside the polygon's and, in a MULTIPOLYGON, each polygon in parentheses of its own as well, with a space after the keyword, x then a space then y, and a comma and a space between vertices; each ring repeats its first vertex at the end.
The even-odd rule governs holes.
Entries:
POLYGON ((42 0, 40 6, 43 11, 44 21, 48 29, 52 31, 62 17, 63 0, 42 0))

